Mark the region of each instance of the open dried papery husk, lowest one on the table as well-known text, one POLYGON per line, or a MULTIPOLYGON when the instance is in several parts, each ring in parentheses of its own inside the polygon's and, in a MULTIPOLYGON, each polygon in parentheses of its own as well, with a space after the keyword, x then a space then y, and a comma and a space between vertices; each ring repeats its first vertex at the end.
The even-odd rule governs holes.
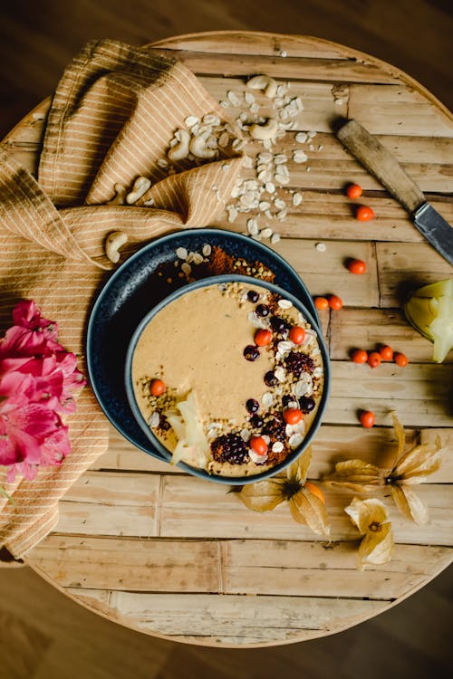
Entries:
POLYGON ((377 498, 354 498, 344 511, 364 535, 359 548, 359 568, 364 569, 366 564, 378 566, 390 561, 394 548, 393 531, 383 502, 377 498))

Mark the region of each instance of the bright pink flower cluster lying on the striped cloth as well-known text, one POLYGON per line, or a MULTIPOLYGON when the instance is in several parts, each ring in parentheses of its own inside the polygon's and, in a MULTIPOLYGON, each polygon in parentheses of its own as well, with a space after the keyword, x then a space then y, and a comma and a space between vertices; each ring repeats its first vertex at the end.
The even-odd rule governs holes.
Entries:
POLYGON ((57 341, 56 323, 34 301, 13 311, 0 339, 0 464, 7 479, 33 479, 40 465, 61 464, 71 452, 61 414, 75 410, 73 392, 85 385, 77 357, 57 341))

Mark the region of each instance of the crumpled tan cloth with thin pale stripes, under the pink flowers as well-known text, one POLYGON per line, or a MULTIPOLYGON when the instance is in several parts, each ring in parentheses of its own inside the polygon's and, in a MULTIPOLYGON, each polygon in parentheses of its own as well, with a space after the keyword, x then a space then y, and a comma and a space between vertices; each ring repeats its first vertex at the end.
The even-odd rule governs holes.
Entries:
MULTIPOLYGON (((80 355, 93 299, 107 280, 106 235, 121 230, 134 252, 150 238, 203 226, 224 206, 241 158, 159 167, 169 139, 189 115, 223 113, 197 78, 149 48, 113 41, 89 43, 63 73, 48 116, 38 181, 0 148, 0 331, 21 299, 33 299, 59 324, 59 341, 80 355), (113 186, 144 175, 153 186, 137 206, 101 205, 113 186), (154 200, 154 206, 143 206, 154 200), (58 209, 57 209, 58 207, 58 209)), ((85 371, 86 372, 86 371, 85 371)), ((52 531, 58 501, 108 445, 106 417, 90 387, 68 418, 72 454, 40 470, 33 481, 0 485, 0 545, 20 557, 52 531)))

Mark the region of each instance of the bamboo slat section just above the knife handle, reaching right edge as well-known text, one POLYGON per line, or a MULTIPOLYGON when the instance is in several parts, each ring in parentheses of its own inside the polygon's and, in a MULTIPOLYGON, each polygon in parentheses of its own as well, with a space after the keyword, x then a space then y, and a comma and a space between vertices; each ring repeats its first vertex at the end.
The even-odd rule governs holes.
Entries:
POLYGON ((453 124, 433 102, 403 85, 352 84, 348 118, 371 134, 451 137, 453 124))

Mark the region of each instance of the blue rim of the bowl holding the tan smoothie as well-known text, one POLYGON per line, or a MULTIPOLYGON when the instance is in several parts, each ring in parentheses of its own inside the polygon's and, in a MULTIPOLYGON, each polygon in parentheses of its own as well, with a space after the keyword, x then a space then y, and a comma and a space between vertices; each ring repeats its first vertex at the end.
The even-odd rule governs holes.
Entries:
POLYGON ((258 287, 264 287, 270 292, 275 292, 276 294, 280 295, 284 299, 287 299, 289 301, 293 302, 294 307, 303 313, 304 318, 309 321, 309 323, 312 325, 314 330, 317 332, 317 341, 318 341, 318 346, 321 350, 321 355, 323 357, 323 395, 321 397, 321 402, 318 406, 318 410, 316 412, 316 415, 314 416, 312 426, 310 427, 308 434, 304 437, 304 441, 301 445, 299 445, 297 448, 294 448, 294 451, 285 458, 284 462, 281 464, 275 464, 274 467, 271 469, 268 469, 267 471, 263 473, 257 473, 254 474, 253 476, 240 476, 240 477, 231 477, 231 476, 220 476, 218 474, 210 474, 207 473, 204 469, 199 469, 197 467, 192 467, 188 464, 185 464, 183 462, 178 463, 178 468, 190 473, 193 476, 197 476, 198 478, 203 478, 207 479, 208 481, 213 481, 216 483, 226 483, 228 485, 245 485, 246 483, 255 483, 257 481, 263 481, 263 479, 267 479, 270 476, 275 476, 275 474, 283 471, 286 467, 288 467, 290 464, 294 463, 294 460, 301 455, 304 450, 307 448, 308 445, 313 441, 313 436, 316 434, 318 431, 319 427, 321 426, 321 422, 323 419, 323 414, 325 412, 325 407, 327 405, 327 401, 329 398, 329 393, 330 393, 330 385, 331 385, 331 369, 330 369, 330 360, 329 360, 329 354, 327 351, 327 347, 325 345, 324 339, 323 339, 323 334, 319 330, 315 320, 313 319, 312 314, 305 308, 304 304, 299 301, 293 294, 290 292, 286 292, 283 288, 278 287, 277 285, 274 285, 274 283, 270 282, 265 282, 261 280, 257 280, 253 277, 250 276, 241 276, 241 275, 235 275, 235 274, 223 274, 219 276, 212 276, 211 278, 207 279, 202 279, 200 281, 196 282, 191 282, 188 283, 187 285, 184 285, 181 288, 178 288, 178 290, 172 292, 171 294, 168 295, 164 300, 159 301, 159 303, 152 309, 150 310, 146 316, 142 320, 140 320, 139 325, 137 326, 136 330, 134 330, 132 337, 130 339, 130 344, 126 353, 126 360, 125 360, 125 366, 124 366, 124 384, 126 388, 126 396, 128 398, 129 404, 130 404, 130 409, 136 418, 137 423, 139 424, 140 428, 144 432, 144 434, 149 438, 149 441, 151 444, 157 448, 159 451, 159 454, 162 455, 164 460, 167 460, 168 462, 171 461, 171 453, 169 450, 163 445, 157 436, 155 436, 151 429, 149 428, 149 425, 147 424, 145 418, 142 416, 140 412, 140 407, 137 403, 137 400, 135 398, 135 393, 134 389, 132 386, 132 378, 131 378, 131 364, 132 364, 132 358, 133 354, 135 351, 135 348, 137 346, 137 343, 140 339, 140 335, 145 329, 145 327, 148 325, 149 321, 156 316, 159 311, 162 311, 164 307, 166 307, 169 303, 172 301, 178 300, 179 297, 182 297, 183 295, 187 294, 188 292, 193 292, 194 290, 198 290, 199 288, 206 288, 211 285, 219 285, 221 283, 226 283, 226 282, 243 282, 245 285, 256 285, 258 287))

